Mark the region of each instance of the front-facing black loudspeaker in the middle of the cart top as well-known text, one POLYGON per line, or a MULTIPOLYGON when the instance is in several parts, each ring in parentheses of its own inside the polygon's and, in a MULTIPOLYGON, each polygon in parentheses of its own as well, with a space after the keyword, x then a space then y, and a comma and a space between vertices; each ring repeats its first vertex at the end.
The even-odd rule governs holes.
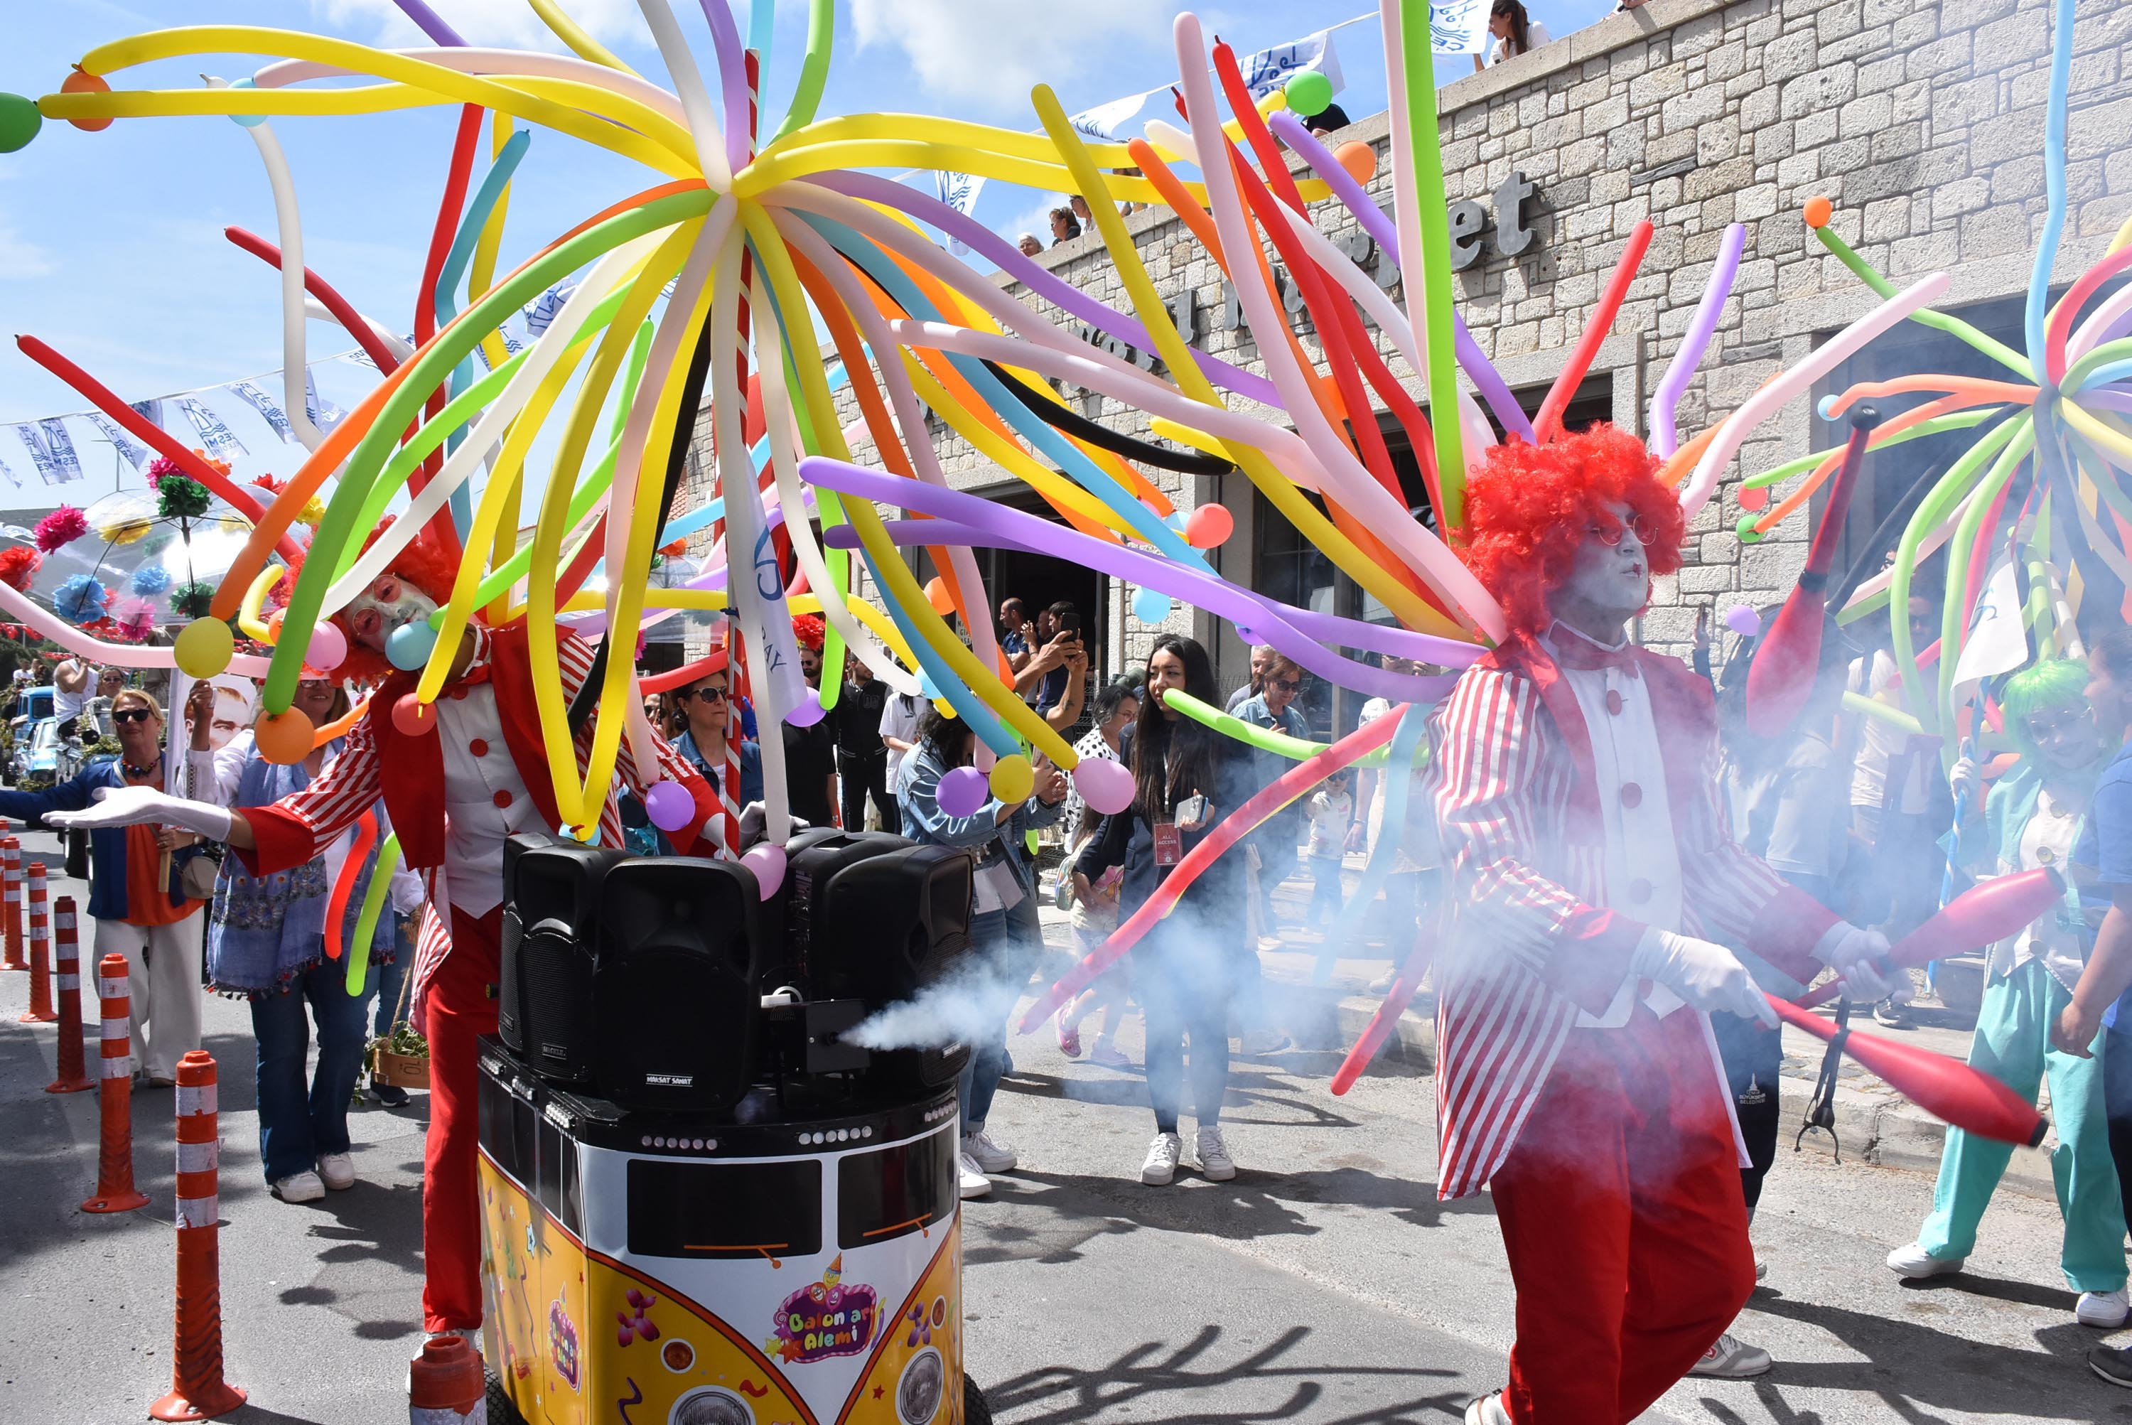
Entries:
POLYGON ((755 1079, 755 875, 736 862, 637 858, 601 883, 591 986, 599 1094, 625 1109, 727 1109, 755 1079))

